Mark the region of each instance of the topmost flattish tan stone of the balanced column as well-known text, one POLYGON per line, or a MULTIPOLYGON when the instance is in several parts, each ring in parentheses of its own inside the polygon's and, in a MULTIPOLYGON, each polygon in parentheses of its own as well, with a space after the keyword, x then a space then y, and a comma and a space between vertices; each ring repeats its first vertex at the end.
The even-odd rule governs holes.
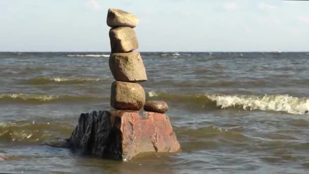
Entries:
POLYGON ((134 28, 138 24, 138 18, 119 9, 108 9, 106 22, 110 27, 129 26, 134 28))

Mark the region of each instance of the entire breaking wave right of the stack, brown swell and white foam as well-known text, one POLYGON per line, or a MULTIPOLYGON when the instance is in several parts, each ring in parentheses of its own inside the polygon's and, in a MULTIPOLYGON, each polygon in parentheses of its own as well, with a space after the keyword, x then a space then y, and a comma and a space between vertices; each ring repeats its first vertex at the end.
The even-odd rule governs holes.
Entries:
POLYGON ((307 114, 309 112, 309 98, 298 98, 289 95, 197 94, 186 96, 150 91, 148 97, 172 102, 188 102, 193 105, 203 105, 203 107, 214 106, 221 109, 240 108, 244 110, 280 111, 290 114, 307 114))

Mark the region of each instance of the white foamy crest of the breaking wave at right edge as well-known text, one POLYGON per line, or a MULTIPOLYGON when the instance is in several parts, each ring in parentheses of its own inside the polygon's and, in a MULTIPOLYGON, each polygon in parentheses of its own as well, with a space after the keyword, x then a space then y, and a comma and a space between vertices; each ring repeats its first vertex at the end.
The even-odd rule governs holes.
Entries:
POLYGON ((291 114, 307 114, 309 98, 297 98, 289 95, 265 96, 229 96, 208 95, 206 97, 217 102, 221 108, 242 107, 250 110, 283 111, 291 114))

